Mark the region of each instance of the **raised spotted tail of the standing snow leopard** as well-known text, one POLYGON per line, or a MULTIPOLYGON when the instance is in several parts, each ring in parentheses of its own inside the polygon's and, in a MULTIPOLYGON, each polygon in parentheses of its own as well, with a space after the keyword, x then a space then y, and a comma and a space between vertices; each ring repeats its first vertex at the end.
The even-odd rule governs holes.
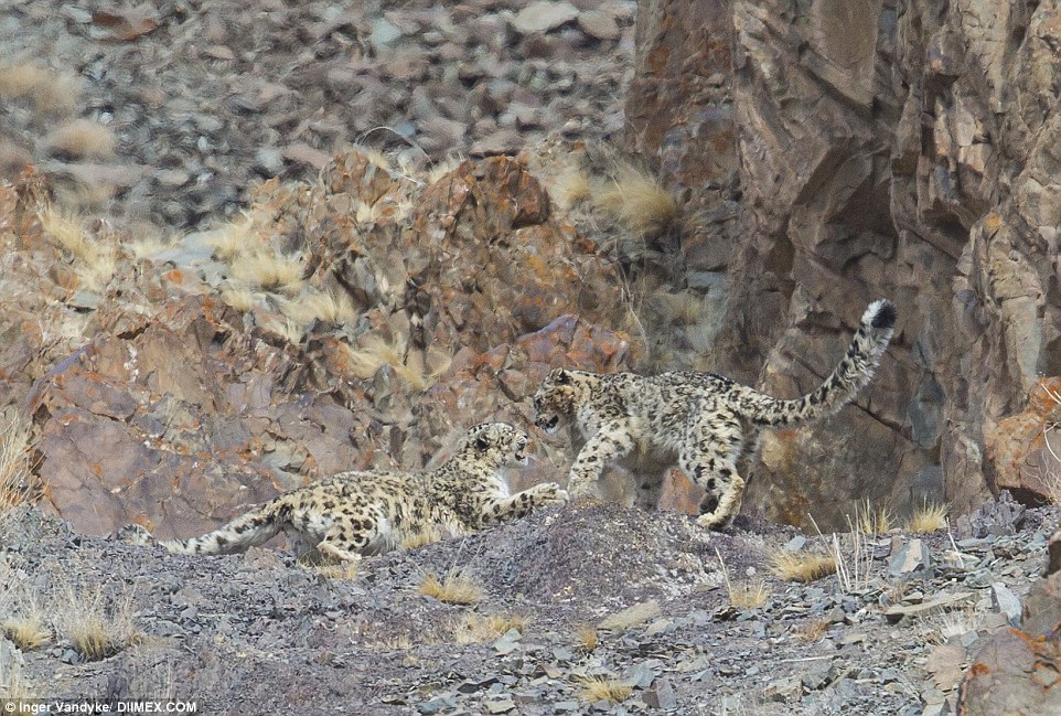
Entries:
POLYGON ((743 396, 749 417, 760 425, 792 425, 839 410, 874 377, 896 327, 896 304, 874 301, 862 313, 847 354, 817 389, 795 400, 781 400, 752 388, 743 396))

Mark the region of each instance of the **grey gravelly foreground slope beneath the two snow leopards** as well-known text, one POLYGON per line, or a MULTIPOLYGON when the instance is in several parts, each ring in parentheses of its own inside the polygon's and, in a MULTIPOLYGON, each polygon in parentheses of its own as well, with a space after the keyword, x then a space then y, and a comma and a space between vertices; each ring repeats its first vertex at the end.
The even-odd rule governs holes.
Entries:
MULTIPOLYGON (((951 530, 855 538, 566 506, 351 575, 270 548, 170 555, 19 509, 0 598, 15 617, 43 609, 44 635, 0 642, 0 673, 25 696, 195 699, 217 714, 953 714, 964 670, 1020 622, 1058 514, 992 503, 951 530), (772 570, 779 553, 834 544, 842 576, 772 570), (478 589, 469 603, 421 592, 456 570, 478 589), (742 587, 761 603, 733 606, 742 587), (114 642, 89 660, 67 616, 94 608, 114 642), (614 703, 592 680, 628 688, 614 703)), ((1031 609, 1044 605, 1058 608, 1031 609)))

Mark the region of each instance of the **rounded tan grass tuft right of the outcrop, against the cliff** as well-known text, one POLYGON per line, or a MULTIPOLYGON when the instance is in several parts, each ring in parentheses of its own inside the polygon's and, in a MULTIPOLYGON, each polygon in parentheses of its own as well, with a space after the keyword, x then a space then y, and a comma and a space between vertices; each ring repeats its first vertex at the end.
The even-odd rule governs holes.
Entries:
POLYGON ((647 172, 626 162, 619 162, 610 181, 597 190, 593 206, 645 238, 667 231, 678 215, 671 193, 647 172))

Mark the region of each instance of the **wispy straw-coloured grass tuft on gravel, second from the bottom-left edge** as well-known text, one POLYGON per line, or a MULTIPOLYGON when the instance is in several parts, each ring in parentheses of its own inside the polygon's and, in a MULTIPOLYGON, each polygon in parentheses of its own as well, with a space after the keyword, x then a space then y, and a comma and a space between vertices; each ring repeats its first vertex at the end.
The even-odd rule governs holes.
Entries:
POLYGON ((98 661, 137 643, 132 592, 108 605, 103 588, 76 589, 67 585, 54 617, 56 630, 86 661, 98 661))

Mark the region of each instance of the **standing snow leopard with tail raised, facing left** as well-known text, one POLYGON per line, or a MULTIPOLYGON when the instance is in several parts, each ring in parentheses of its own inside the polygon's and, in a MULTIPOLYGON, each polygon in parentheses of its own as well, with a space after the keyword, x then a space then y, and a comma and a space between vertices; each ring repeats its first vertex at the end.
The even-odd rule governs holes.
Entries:
POLYGON ((574 420, 586 437, 568 479, 572 498, 590 492, 604 462, 649 444, 676 452, 680 468, 705 490, 697 523, 727 524, 740 510, 744 480, 737 462, 761 428, 828 416, 874 375, 896 324, 891 301, 875 301, 847 354, 825 382, 794 400, 774 398, 714 373, 598 375, 556 368, 534 395, 535 424, 555 432, 574 420))

